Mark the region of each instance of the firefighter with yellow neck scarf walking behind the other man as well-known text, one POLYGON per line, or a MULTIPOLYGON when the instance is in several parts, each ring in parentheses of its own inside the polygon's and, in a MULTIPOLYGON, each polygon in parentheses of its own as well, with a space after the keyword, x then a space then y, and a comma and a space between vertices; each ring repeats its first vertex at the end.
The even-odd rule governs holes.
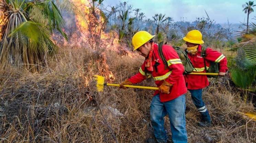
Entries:
MULTIPOLYGON (((218 51, 214 51, 212 48, 205 49, 205 57, 201 57, 202 46, 202 34, 198 30, 189 31, 186 37, 183 38, 187 44, 188 57, 191 60, 194 71, 193 72, 205 72, 204 60, 206 68, 210 67, 210 61, 219 63, 219 75, 224 76, 227 71, 227 59, 218 51)), ((211 118, 209 112, 202 100, 202 88, 209 85, 206 75, 185 75, 187 89, 191 93, 193 103, 196 105, 198 111, 201 114, 201 121, 198 122, 200 127, 211 126, 211 118)))

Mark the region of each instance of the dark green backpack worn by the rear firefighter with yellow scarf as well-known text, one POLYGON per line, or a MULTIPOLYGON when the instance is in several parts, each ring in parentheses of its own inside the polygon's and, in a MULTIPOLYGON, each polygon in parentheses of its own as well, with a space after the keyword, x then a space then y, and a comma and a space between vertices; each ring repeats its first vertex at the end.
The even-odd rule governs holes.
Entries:
MULTIPOLYGON (((203 62, 204 62, 204 70, 207 72, 207 73, 219 73, 219 63, 217 62, 214 62, 214 61, 210 61, 210 67, 207 69, 206 67, 206 63, 205 63, 205 56, 206 56, 206 51, 207 48, 205 47, 202 47, 202 52, 201 52, 201 57, 203 57, 203 62)), ((216 75, 207 75, 207 77, 218 77, 216 75)))

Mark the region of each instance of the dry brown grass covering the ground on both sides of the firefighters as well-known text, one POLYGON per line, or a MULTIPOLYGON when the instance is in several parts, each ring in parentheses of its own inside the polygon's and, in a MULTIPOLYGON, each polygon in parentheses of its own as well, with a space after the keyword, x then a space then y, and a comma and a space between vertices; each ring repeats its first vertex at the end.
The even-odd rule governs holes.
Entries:
MULTIPOLYGON (((105 55, 114 83, 136 73, 143 61, 114 52, 105 55)), ((0 142, 144 142, 152 137, 153 91, 108 87, 98 94, 93 75, 102 74, 100 61, 99 53, 86 48, 62 48, 38 73, 1 71, 0 142), (123 116, 113 114, 112 108, 123 116)), ((140 85, 154 82, 147 79, 140 85)), ((229 85, 228 79, 213 79, 204 89, 211 128, 197 127, 199 113, 187 94, 189 142, 255 142, 255 121, 237 114, 253 111, 253 105, 229 85)))

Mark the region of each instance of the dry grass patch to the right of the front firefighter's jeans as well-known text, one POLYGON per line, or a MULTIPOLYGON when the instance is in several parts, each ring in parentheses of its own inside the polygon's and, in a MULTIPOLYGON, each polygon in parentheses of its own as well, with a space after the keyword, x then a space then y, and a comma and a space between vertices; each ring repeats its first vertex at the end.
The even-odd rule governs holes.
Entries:
POLYGON ((225 77, 212 78, 210 81, 210 86, 203 90, 203 99, 213 122, 211 128, 196 127, 199 113, 193 107, 190 96, 187 96, 187 112, 192 112, 187 113, 190 142, 255 142, 255 121, 247 120, 237 113, 253 112, 252 103, 245 104, 239 93, 233 92, 233 87, 229 86, 229 80, 225 77), (190 109, 191 107, 193 109, 190 109), (197 114, 196 117, 195 114, 197 114), (193 138, 191 135, 196 135, 197 138, 193 138))

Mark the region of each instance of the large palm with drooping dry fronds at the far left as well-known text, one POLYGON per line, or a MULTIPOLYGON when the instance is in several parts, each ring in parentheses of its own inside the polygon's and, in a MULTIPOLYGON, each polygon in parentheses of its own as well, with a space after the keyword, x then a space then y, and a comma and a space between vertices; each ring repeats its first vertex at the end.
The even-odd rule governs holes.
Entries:
POLYGON ((35 65, 56 48, 51 32, 57 29, 67 39, 61 30, 65 22, 52 0, 1 0, 0 9, 1 68, 23 65, 35 72, 35 65))

